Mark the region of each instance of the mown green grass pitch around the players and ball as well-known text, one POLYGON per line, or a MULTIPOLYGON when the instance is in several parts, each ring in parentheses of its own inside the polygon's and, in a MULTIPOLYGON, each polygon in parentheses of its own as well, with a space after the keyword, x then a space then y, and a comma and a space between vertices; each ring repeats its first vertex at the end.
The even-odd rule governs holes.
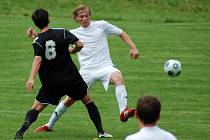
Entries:
MULTIPOLYGON (((62 2, 65 3, 64 0, 62 2)), ((126 2, 129 5, 132 0, 126 2)), ((0 7, 4 13, 6 6, 0 7)), ((13 10, 16 7, 17 4, 13 10)), ((23 8, 27 9, 27 6, 23 8)), ((27 13, 30 11, 28 9, 18 12, 27 13)), ((33 60, 32 40, 26 37, 25 32, 33 23, 29 16, 22 16, 18 12, 0 15, 1 140, 13 139, 40 87, 37 78, 33 93, 25 90, 33 60)), ((129 106, 135 107, 137 99, 142 95, 154 95, 162 103, 161 119, 158 122, 160 127, 172 132, 179 140, 209 140, 210 18, 207 18, 208 9, 206 14, 200 13, 198 21, 193 18, 196 14, 189 12, 183 15, 185 14, 186 18, 173 18, 173 22, 165 22, 159 18, 158 22, 148 22, 151 17, 145 17, 148 20, 142 22, 143 16, 137 21, 129 20, 126 16, 125 20, 116 20, 119 15, 115 14, 114 19, 107 17, 109 22, 121 27, 131 36, 141 57, 131 60, 127 46, 117 37, 109 38, 110 52, 113 62, 124 75, 129 106), (182 19, 187 21, 175 22, 182 19), (170 58, 178 59, 182 63, 183 71, 179 77, 171 78, 164 73, 163 64, 170 58)), ((51 21, 53 27, 70 29, 77 26, 65 16, 53 17, 51 21)), ((72 57, 78 64, 76 55, 72 57)), ((120 122, 114 90, 110 86, 106 93, 102 85, 96 83, 91 90, 91 96, 100 110, 105 130, 114 136, 113 140, 122 140, 138 131, 138 127, 135 119, 126 123, 120 122)), ((69 108, 53 132, 34 133, 33 129, 48 121, 54 108, 55 106, 49 106, 39 115, 38 120, 27 131, 26 140, 96 140, 95 128, 89 120, 86 108, 80 102, 69 108)))

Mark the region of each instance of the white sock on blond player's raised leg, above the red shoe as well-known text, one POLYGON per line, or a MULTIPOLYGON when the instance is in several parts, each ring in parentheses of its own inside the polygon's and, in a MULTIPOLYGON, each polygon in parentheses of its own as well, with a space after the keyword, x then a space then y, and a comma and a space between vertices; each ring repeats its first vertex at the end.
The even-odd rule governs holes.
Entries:
POLYGON ((124 85, 116 86, 115 94, 119 105, 120 113, 122 113, 127 107, 127 92, 124 85))

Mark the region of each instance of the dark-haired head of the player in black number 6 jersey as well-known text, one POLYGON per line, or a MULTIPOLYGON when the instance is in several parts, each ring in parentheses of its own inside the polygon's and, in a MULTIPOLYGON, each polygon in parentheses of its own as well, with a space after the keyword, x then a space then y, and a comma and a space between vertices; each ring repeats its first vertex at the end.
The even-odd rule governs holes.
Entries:
POLYGON ((39 29, 43 29, 44 27, 46 27, 49 24, 49 14, 45 9, 36 9, 31 18, 34 22, 34 24, 39 28, 39 29))

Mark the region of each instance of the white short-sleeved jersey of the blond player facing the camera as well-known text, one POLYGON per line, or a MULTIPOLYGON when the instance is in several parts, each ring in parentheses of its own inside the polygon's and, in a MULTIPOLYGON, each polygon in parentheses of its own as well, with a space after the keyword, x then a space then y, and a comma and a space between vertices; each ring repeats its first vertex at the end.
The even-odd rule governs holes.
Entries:
POLYGON ((112 65, 107 42, 108 35, 119 35, 122 30, 104 20, 91 21, 88 27, 70 30, 77 36, 84 47, 77 53, 80 70, 94 70, 112 65))

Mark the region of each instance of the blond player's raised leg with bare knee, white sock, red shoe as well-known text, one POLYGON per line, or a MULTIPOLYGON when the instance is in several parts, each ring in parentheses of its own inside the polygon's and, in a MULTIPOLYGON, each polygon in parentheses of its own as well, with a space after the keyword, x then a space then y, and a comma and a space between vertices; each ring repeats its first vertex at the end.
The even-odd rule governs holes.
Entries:
POLYGON ((115 84, 115 95, 120 110, 120 120, 125 122, 129 117, 134 116, 135 109, 127 107, 127 91, 124 85, 123 76, 119 71, 115 71, 110 75, 110 83, 115 84))

